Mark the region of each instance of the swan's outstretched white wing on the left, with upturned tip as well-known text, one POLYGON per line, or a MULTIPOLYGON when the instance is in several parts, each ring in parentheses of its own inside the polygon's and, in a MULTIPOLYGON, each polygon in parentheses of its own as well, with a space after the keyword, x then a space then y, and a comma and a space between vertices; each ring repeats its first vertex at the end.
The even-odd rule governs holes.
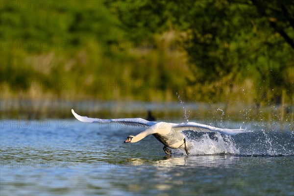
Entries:
POLYGON ((145 119, 141 118, 133 118, 133 119, 96 119, 96 118, 88 118, 85 116, 80 116, 74 112, 72 109, 73 116, 84 123, 121 123, 124 125, 129 125, 129 126, 139 126, 139 127, 149 127, 157 122, 150 122, 145 119))

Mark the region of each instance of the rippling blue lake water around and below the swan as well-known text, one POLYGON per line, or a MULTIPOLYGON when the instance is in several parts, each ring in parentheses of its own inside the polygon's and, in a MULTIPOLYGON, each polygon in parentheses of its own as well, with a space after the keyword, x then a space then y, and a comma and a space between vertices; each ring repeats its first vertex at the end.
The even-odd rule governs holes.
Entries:
POLYGON ((153 136, 124 144, 137 127, 73 119, 2 119, 0 126, 1 196, 294 195, 290 130, 187 131, 191 156, 168 156, 153 136))

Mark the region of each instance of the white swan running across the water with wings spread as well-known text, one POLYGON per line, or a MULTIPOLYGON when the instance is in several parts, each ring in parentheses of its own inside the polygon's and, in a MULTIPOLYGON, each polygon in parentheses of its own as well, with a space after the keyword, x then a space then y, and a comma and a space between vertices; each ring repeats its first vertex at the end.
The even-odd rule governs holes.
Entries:
POLYGON ((124 143, 135 143, 139 142, 147 135, 152 134, 159 142, 161 142, 164 147, 163 150, 167 154, 171 154, 172 151, 168 148, 181 148, 184 149, 189 155, 189 150, 193 148, 193 144, 186 142, 185 136, 181 133, 184 130, 193 130, 196 132, 220 132, 226 135, 236 135, 238 133, 247 133, 251 132, 250 130, 245 129, 225 129, 217 128, 200 123, 165 123, 165 122, 150 122, 141 118, 133 119, 96 119, 79 116, 72 109, 73 116, 85 123, 121 123, 124 125, 147 127, 147 129, 136 136, 128 136, 124 143))

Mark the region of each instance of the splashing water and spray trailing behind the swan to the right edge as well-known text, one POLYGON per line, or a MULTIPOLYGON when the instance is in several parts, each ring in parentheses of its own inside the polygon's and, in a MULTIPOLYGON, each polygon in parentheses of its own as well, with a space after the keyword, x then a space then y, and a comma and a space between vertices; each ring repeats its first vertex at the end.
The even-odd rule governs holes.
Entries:
MULTIPOLYGON (((220 133, 184 132, 194 145, 190 155, 294 156, 294 132, 262 130, 235 136, 220 133)), ((181 149, 174 153, 186 154, 181 149)))

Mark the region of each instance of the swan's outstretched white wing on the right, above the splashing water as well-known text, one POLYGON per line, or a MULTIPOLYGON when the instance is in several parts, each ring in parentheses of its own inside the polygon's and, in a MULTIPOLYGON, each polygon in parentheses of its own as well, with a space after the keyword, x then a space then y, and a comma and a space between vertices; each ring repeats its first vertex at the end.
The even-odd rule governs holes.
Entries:
POLYGON ((250 130, 245 129, 226 129, 226 128, 217 128, 214 126, 206 125, 206 124, 200 124, 200 123, 180 123, 180 124, 174 124, 172 126, 172 129, 176 131, 185 131, 185 130, 192 130, 196 132, 220 132, 226 135, 236 135, 238 133, 248 133, 252 132, 250 130))

